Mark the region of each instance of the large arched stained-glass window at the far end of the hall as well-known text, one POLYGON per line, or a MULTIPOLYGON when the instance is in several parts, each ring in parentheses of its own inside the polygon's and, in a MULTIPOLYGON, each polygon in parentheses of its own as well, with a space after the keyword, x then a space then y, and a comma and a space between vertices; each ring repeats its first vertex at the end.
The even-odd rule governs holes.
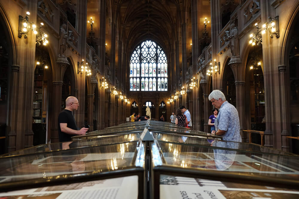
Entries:
POLYGON ((141 42, 131 55, 129 76, 130 91, 167 91, 167 58, 162 48, 154 41, 141 42))

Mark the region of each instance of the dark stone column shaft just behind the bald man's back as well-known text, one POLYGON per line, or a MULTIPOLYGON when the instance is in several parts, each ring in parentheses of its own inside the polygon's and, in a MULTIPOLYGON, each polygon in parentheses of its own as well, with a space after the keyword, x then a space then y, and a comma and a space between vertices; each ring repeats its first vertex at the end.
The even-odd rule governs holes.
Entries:
POLYGON ((58 137, 58 115, 61 111, 61 92, 62 92, 62 81, 54 81, 52 82, 53 89, 52 94, 55 96, 52 99, 52 121, 51 121, 51 143, 59 142, 58 137))

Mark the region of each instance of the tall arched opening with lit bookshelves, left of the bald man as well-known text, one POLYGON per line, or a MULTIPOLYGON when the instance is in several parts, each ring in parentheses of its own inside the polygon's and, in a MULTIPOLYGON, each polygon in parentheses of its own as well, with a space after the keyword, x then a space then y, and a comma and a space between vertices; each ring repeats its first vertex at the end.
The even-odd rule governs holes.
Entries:
POLYGON ((48 111, 52 104, 52 66, 48 50, 39 46, 35 50, 35 70, 33 84, 32 131, 33 145, 46 144, 52 115, 48 111))

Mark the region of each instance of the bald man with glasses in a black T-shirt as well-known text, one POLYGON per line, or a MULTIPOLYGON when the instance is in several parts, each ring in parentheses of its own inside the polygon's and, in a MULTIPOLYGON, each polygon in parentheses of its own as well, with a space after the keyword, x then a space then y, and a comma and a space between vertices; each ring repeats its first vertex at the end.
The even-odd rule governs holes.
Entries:
POLYGON ((78 99, 69 96, 65 100, 65 109, 58 115, 58 135, 59 141, 71 141, 71 137, 75 135, 84 135, 88 128, 82 128, 78 130, 76 120, 72 113, 73 110, 77 110, 79 107, 78 99))

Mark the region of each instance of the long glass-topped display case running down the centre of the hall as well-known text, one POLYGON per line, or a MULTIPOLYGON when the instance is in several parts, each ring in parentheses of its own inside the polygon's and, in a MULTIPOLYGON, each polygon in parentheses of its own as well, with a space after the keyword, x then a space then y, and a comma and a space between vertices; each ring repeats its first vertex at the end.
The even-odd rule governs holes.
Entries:
POLYGON ((0 198, 298 198, 299 156, 142 121, 0 157, 0 198))

